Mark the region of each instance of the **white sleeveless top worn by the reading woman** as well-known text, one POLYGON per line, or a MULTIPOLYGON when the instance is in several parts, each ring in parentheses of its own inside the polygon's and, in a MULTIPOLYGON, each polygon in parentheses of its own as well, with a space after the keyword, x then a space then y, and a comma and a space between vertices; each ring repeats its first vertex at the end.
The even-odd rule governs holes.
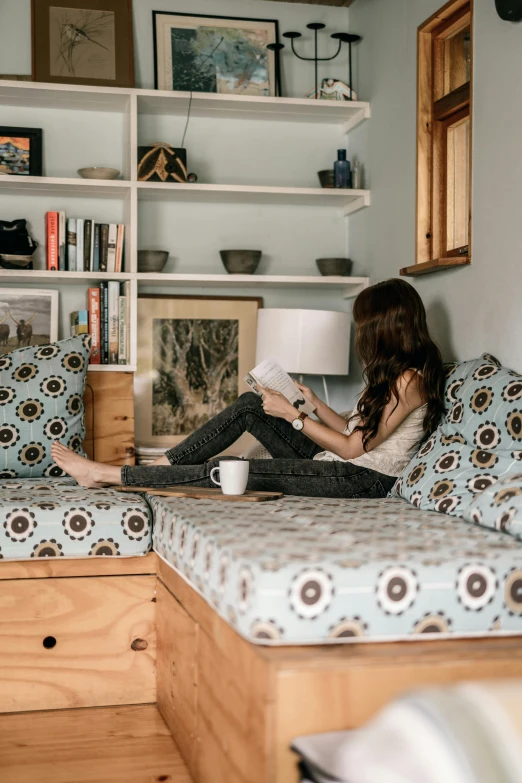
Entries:
MULTIPOLYGON (((361 454, 360 457, 343 460, 331 451, 321 451, 315 455, 314 459, 325 462, 352 462, 354 465, 376 470, 386 476, 398 476, 415 455, 419 443, 424 437, 422 425, 426 415, 426 407, 426 405, 421 405, 420 408, 412 411, 389 438, 386 438, 383 443, 371 451, 361 454)), ((355 415, 348 422, 344 431, 345 435, 351 435, 358 423, 359 416, 355 415)))

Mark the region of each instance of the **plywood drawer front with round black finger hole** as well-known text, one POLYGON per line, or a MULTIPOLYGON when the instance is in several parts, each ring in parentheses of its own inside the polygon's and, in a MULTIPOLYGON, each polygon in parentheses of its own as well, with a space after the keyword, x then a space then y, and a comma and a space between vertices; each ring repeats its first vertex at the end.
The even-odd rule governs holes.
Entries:
POLYGON ((1 581, 0 712, 155 701, 155 583, 1 581))

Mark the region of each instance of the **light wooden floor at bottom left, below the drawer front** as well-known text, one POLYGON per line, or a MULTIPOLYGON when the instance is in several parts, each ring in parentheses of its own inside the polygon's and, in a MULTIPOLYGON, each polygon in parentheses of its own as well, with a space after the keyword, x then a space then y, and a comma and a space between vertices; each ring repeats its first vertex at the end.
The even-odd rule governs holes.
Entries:
POLYGON ((191 783, 157 708, 0 715, 2 783, 191 783))

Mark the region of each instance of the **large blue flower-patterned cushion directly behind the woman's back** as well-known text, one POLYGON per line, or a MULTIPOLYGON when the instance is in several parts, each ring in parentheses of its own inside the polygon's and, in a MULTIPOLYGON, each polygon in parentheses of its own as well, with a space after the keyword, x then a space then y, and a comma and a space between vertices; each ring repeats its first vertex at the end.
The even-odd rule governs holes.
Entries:
POLYGON ((399 476, 392 495, 465 516, 475 495, 522 460, 522 376, 490 354, 448 369, 446 417, 399 476))

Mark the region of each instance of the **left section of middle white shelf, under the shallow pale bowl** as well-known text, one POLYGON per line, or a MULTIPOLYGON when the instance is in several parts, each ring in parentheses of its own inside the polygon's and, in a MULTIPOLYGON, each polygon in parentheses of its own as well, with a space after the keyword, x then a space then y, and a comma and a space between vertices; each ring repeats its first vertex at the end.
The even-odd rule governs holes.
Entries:
POLYGON ((80 177, 24 177, 0 174, 1 193, 20 193, 24 196, 42 193, 67 193, 69 196, 121 198, 130 188, 126 180, 81 179, 80 177))

